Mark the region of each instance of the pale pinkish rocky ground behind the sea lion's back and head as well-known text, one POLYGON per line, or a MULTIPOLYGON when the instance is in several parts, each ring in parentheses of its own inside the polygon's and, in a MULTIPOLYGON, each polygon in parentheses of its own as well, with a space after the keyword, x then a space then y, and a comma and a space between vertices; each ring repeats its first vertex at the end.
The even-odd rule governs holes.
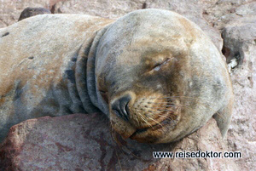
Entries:
MULTIPOLYGON (((227 62, 231 62, 230 67, 233 67, 230 70, 230 76, 236 102, 227 136, 228 149, 241 151, 242 158, 232 159, 232 161, 238 163, 243 170, 256 168, 255 0, 22 0, 10 2, 10 0, 0 1, 0 28, 15 23, 20 12, 26 7, 44 7, 53 13, 91 14, 113 19, 135 9, 159 8, 174 10, 193 20, 206 31, 219 50, 223 48, 222 52, 227 62)), ((160 160, 162 163, 168 163, 168 161, 160 160)), ((181 160, 176 159, 176 161, 181 160)), ((148 170, 154 170, 155 166, 148 167, 148 170)))

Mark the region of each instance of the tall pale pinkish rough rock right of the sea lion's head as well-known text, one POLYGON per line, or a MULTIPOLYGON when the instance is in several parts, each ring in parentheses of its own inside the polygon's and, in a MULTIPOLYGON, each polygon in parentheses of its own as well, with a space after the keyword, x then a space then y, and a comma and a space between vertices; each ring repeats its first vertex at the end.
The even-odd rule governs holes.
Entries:
POLYGON ((228 134, 229 149, 243 170, 256 168, 256 16, 231 21, 224 27, 224 53, 237 60, 231 71, 236 101, 228 134))

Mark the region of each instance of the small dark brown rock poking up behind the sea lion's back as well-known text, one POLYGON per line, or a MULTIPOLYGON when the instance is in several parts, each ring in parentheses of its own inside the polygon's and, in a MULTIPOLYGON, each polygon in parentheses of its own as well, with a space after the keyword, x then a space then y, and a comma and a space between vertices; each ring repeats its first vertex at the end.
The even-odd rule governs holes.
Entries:
POLYGON ((19 20, 23 20, 28 17, 35 16, 37 14, 51 14, 51 13, 49 9, 28 7, 21 12, 19 20))

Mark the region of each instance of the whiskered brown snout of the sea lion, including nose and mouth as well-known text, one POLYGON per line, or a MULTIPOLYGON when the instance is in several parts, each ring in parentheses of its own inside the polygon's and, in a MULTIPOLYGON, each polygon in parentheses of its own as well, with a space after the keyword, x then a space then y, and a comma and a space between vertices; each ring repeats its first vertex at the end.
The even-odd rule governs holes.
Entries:
POLYGON ((113 129, 124 138, 140 142, 156 142, 174 129, 181 117, 179 100, 157 92, 133 96, 129 91, 110 101, 113 129))

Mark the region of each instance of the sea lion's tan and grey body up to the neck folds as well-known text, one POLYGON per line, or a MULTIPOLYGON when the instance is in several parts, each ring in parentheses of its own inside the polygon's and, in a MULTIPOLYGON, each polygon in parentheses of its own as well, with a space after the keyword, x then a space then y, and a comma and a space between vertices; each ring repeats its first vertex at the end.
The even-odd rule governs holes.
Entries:
POLYGON ((111 22, 44 14, 1 30, 0 140, 26 119, 99 111, 88 94, 86 65, 97 31, 111 22))

